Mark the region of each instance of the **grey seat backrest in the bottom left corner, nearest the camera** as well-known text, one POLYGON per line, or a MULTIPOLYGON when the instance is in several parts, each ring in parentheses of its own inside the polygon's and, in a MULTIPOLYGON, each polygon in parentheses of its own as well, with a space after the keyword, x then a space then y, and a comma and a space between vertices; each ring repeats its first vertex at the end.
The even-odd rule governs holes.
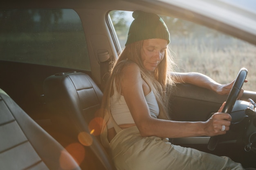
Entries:
POLYGON ((72 156, 2 89, 0 169, 80 170, 72 156))

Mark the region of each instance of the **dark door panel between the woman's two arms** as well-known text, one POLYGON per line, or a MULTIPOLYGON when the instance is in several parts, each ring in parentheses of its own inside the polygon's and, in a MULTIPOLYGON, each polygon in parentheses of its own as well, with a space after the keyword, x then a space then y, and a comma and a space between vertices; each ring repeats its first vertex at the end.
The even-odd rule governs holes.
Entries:
MULTIPOLYGON (((177 84, 171 102, 171 118, 177 121, 206 121, 211 113, 217 112, 228 95, 191 84, 177 84)), ((256 93, 245 91, 241 100, 253 99, 256 93)))

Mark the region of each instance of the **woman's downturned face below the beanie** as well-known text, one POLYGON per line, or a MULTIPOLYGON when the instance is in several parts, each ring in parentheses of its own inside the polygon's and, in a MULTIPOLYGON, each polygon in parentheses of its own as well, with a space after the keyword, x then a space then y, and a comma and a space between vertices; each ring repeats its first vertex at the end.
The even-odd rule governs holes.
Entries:
POLYGON ((167 41, 164 39, 144 40, 142 46, 143 65, 148 71, 155 71, 157 65, 163 60, 167 41))

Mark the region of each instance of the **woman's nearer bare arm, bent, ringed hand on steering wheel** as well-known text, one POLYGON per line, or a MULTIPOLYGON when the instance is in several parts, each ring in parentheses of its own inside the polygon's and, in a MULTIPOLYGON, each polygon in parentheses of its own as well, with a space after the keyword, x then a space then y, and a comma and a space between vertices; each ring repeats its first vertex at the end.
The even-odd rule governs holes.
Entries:
POLYGON ((152 118, 144 97, 144 90, 147 89, 144 86, 146 85, 141 78, 137 64, 130 64, 124 68, 121 93, 124 95, 141 136, 177 138, 222 135, 226 133, 226 131, 221 131, 222 125, 225 125, 226 130, 229 130, 231 117, 226 113, 216 113, 205 122, 182 122, 152 118))

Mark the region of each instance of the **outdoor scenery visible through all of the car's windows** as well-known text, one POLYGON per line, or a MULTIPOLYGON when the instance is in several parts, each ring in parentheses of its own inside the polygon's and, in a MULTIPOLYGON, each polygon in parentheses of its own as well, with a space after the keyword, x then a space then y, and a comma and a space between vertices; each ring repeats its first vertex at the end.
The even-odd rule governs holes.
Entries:
MULTIPOLYGON (((110 12, 124 48, 132 12, 110 12)), ((169 48, 179 72, 200 72, 221 84, 248 69, 243 88, 256 91, 256 46, 205 26, 162 16, 171 35, 169 48)), ((0 11, 0 60, 90 71, 83 26, 72 9, 0 11)))

